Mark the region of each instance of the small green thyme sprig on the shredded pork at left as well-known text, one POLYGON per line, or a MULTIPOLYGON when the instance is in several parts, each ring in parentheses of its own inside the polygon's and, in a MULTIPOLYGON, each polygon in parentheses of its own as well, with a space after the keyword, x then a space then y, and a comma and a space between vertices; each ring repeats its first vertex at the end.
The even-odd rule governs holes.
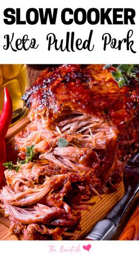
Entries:
POLYGON ((12 161, 9 161, 9 162, 4 163, 3 166, 8 168, 9 170, 15 170, 16 173, 18 173, 19 168, 21 167, 21 164, 28 163, 34 157, 34 155, 35 155, 34 147, 35 147, 35 145, 32 145, 31 147, 29 147, 29 146, 27 147, 25 160, 19 161, 19 158, 18 158, 18 161, 17 161, 18 164, 13 164, 12 161))

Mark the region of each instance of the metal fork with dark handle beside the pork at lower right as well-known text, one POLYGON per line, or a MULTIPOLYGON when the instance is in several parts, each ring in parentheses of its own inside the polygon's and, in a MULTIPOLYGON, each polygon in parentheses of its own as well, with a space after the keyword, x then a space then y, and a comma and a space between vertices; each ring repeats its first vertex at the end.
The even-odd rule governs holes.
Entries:
POLYGON ((110 240, 117 231, 118 224, 134 196, 139 191, 139 152, 131 156, 124 169, 124 196, 110 213, 99 221, 85 239, 110 240))

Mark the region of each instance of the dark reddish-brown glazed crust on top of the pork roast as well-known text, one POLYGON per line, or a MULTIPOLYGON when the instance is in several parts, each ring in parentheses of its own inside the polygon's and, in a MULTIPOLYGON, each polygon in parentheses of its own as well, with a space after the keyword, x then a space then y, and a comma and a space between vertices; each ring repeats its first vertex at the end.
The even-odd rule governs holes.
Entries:
POLYGON ((65 65, 45 70, 24 99, 31 113, 46 111, 49 118, 64 108, 108 119, 122 131, 138 109, 138 82, 119 88, 112 79, 111 68, 104 65, 65 65))

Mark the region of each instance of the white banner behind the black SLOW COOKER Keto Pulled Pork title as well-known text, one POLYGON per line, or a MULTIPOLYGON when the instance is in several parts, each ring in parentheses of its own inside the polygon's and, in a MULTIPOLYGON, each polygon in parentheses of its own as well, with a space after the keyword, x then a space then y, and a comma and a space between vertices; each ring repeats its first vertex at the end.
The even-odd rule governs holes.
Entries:
POLYGON ((137 0, 1 1, 0 62, 138 63, 138 12, 137 0), (55 24, 45 17, 48 8, 55 24))

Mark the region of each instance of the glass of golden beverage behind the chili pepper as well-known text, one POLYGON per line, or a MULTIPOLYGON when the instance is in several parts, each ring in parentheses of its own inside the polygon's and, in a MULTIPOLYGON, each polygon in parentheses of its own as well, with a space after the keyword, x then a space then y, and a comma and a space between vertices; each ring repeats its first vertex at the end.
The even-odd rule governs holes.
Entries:
POLYGON ((28 88, 28 70, 24 64, 0 64, 0 112, 4 101, 4 87, 7 87, 12 98, 13 118, 16 121, 25 112, 21 96, 28 88))

